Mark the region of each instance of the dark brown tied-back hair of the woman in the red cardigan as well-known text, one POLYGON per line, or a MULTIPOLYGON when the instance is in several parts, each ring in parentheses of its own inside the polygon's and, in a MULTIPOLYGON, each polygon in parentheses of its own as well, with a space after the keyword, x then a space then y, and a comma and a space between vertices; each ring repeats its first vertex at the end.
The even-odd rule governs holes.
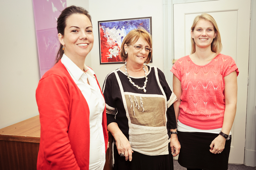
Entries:
MULTIPOLYGON (((58 33, 60 33, 61 35, 64 35, 64 30, 65 30, 65 27, 67 25, 66 20, 72 14, 84 14, 89 18, 89 20, 92 23, 92 17, 91 17, 91 15, 89 14, 89 12, 87 10, 85 10, 82 7, 77 7, 77 6, 74 6, 74 5, 69 6, 61 12, 61 14, 60 14, 60 16, 57 20, 57 30, 58 30, 58 33)), ((62 45, 60 44, 60 49, 59 49, 59 51, 57 53, 57 56, 56 56, 56 63, 58 63, 60 61, 63 54, 64 54, 64 50, 62 49, 62 45)))

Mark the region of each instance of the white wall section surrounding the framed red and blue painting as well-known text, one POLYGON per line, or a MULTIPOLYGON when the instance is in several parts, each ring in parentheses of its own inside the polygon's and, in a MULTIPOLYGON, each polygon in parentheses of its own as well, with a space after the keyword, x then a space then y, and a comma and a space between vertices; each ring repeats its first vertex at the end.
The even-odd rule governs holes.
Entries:
POLYGON ((91 51, 92 69, 94 70, 102 87, 108 73, 123 64, 100 64, 98 21, 152 17, 152 39, 153 39, 153 63, 160 70, 164 69, 164 48, 163 48, 163 1, 156 0, 89 0, 90 14, 92 16, 92 26, 94 34, 94 45, 91 51))

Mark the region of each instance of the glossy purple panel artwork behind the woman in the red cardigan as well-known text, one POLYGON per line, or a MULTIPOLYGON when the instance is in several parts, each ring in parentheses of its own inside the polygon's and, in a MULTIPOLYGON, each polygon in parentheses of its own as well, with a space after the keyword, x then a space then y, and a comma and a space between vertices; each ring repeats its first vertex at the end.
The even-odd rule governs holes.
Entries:
POLYGON ((36 41, 41 77, 55 64, 60 48, 57 18, 67 7, 66 0, 33 0, 36 41))

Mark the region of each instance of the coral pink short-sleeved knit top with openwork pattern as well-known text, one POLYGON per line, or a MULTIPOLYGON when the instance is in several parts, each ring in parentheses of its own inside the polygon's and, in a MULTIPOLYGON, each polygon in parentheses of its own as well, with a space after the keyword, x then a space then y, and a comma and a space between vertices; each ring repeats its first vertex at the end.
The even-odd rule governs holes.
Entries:
POLYGON ((223 124, 225 111, 224 77, 238 68, 228 55, 219 54, 206 65, 196 65, 189 55, 172 66, 172 73, 180 80, 179 121, 196 129, 217 129, 223 124))

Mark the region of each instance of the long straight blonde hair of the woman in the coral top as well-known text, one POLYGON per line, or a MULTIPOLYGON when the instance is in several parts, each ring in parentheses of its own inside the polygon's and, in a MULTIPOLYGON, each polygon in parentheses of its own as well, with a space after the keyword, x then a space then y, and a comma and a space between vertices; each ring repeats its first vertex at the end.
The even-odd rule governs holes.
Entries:
MULTIPOLYGON (((214 27, 214 31, 216 32, 216 36, 212 40, 211 49, 214 53, 216 53, 216 55, 220 54, 220 52, 222 50, 220 31, 219 31, 219 28, 217 26, 215 19, 211 15, 209 15, 207 13, 203 13, 201 15, 196 16, 196 18, 194 19, 193 25, 191 26, 191 31, 194 32, 195 26, 200 19, 204 19, 204 20, 210 21, 212 23, 212 25, 214 27)), ((194 39, 191 37, 191 54, 193 54, 195 52, 196 52, 196 43, 195 43, 194 39)))

